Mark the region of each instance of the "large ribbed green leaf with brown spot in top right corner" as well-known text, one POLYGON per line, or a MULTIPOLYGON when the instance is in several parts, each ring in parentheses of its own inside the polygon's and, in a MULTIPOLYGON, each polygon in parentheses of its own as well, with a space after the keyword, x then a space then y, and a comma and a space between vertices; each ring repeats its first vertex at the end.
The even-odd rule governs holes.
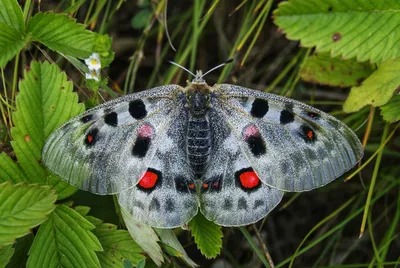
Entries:
POLYGON ((399 9, 397 0, 292 0, 282 2, 274 18, 288 39, 304 47, 381 62, 400 56, 399 9))

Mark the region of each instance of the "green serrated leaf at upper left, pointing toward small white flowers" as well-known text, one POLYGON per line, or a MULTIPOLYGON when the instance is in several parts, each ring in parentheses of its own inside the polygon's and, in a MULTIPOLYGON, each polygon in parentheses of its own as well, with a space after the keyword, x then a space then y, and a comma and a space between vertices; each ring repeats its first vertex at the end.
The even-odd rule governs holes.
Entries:
POLYGON ((94 34, 64 14, 39 12, 29 20, 27 32, 33 41, 64 55, 87 58, 92 53, 94 34))

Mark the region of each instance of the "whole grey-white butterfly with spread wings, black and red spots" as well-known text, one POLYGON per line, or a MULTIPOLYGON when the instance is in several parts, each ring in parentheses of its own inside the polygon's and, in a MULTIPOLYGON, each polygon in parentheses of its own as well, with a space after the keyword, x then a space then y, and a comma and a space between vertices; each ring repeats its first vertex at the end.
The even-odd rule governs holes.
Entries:
POLYGON ((133 217, 158 228, 200 208, 224 226, 254 223, 282 191, 307 191, 353 167, 363 149, 336 118, 239 86, 161 86, 104 103, 46 141, 43 161, 98 194, 118 193, 133 217))

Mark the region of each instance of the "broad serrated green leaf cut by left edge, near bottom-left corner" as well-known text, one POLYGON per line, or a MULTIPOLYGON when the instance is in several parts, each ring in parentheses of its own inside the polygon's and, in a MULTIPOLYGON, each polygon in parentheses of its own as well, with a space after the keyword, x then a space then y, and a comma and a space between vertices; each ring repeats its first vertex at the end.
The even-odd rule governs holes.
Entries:
POLYGON ((50 187, 0 184, 0 245, 13 243, 44 222, 56 199, 50 187))

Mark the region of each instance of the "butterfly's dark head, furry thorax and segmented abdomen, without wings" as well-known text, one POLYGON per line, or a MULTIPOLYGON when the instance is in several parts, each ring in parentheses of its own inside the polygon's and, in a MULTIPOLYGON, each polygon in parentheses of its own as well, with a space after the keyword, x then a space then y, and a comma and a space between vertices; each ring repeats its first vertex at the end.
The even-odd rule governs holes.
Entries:
POLYGON ((200 178, 209 162, 212 137, 208 116, 211 89, 198 77, 188 84, 185 92, 189 109, 186 144, 189 163, 200 178))

